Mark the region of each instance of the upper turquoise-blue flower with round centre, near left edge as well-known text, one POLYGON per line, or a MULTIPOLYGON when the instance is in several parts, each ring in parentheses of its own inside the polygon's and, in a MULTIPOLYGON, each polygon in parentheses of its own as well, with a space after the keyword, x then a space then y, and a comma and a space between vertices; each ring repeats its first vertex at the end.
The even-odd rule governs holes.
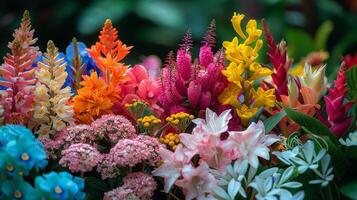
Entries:
POLYGON ((31 170, 33 167, 42 168, 45 164, 46 152, 37 140, 31 141, 20 136, 18 140, 12 140, 6 145, 6 151, 25 170, 31 170))

